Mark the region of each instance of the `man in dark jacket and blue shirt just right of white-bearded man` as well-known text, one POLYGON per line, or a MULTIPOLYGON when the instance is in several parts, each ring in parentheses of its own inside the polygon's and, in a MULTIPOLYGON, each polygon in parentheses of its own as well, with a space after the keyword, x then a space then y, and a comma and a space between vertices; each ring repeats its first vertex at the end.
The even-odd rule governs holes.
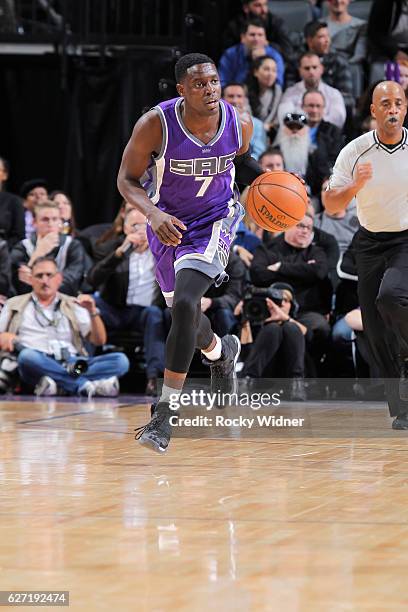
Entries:
POLYGON ((333 167, 344 145, 344 136, 338 127, 323 119, 325 106, 326 100, 321 91, 311 90, 304 93, 302 109, 309 126, 310 144, 323 150, 333 167))

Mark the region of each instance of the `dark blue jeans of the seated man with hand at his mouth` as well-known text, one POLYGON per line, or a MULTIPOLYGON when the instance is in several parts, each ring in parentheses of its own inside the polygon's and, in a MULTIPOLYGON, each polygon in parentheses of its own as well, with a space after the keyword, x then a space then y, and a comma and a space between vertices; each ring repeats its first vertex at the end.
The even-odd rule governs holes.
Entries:
POLYGON ((108 331, 136 330, 143 333, 147 378, 164 372, 166 330, 163 310, 158 306, 112 306, 100 296, 96 304, 108 331))

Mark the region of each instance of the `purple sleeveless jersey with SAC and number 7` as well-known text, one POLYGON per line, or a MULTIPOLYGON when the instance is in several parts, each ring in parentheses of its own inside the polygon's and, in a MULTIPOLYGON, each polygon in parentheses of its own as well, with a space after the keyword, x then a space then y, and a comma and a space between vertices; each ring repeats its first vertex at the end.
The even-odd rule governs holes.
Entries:
POLYGON ((182 102, 174 98, 155 107, 162 123, 162 149, 152 158, 142 184, 153 204, 191 230, 230 214, 236 199, 233 160, 242 134, 235 108, 221 100, 219 129, 204 144, 184 126, 182 102))

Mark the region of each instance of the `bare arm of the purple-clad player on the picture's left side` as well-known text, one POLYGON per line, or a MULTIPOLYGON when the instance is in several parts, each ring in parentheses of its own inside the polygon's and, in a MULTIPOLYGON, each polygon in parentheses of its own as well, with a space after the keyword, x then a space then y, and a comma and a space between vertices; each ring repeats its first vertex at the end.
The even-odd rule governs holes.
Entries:
POLYGON ((157 155, 161 149, 162 138, 160 118, 157 111, 151 110, 137 121, 123 152, 118 189, 129 204, 146 216, 152 230, 163 244, 177 246, 182 235, 176 226, 181 229, 186 229, 186 226, 177 217, 157 208, 140 184, 140 178, 149 167, 152 155, 157 155))

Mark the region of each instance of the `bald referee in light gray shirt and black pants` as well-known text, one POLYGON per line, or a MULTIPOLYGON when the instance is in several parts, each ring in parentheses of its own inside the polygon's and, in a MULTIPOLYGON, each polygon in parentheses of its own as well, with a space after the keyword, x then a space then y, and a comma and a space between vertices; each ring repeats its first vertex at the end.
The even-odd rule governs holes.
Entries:
POLYGON ((401 85, 373 92, 377 129, 350 142, 337 158, 325 193, 329 213, 354 197, 358 293, 373 357, 386 379, 393 429, 408 429, 408 132, 401 85), (400 378, 399 385, 392 379, 400 378))

